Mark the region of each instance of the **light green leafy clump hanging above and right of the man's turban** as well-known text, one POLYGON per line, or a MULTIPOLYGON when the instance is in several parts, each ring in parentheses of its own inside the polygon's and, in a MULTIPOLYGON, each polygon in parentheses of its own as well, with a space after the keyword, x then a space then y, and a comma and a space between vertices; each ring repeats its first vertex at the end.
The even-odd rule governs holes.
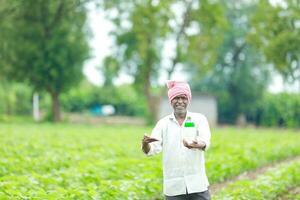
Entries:
POLYGON ((198 6, 191 9, 189 26, 185 30, 186 38, 180 44, 180 50, 186 70, 192 73, 196 71, 199 78, 218 60, 216 51, 224 43, 224 32, 230 29, 230 21, 222 1, 195 2, 198 6))

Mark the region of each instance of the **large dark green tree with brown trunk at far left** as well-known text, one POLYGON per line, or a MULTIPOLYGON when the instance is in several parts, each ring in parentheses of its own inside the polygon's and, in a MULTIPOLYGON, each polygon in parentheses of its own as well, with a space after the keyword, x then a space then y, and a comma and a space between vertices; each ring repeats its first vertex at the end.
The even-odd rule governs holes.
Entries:
MULTIPOLYGON (((80 0, 15 2, 6 30, 7 76, 47 91, 53 120, 60 120, 59 96, 80 82, 88 56, 86 7, 80 0)), ((7 7, 8 10, 11 7, 7 7)))

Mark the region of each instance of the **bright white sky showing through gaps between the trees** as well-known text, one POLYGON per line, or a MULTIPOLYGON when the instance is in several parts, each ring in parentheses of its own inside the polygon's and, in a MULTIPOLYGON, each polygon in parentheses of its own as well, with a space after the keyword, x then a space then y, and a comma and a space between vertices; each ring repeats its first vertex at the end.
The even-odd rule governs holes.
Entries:
MULTIPOLYGON (((103 12, 100 10, 96 10, 94 7, 90 7, 90 11, 88 14, 89 26, 92 32, 92 36, 90 38, 90 47, 91 47, 91 58, 87 60, 84 64, 83 72, 87 79, 95 84, 102 85, 104 82, 104 78, 100 73, 99 68, 101 66, 102 60, 105 56, 111 53, 111 46, 113 44, 113 40, 109 37, 109 32, 112 30, 113 25, 105 19, 103 12)), ((172 44, 169 43, 166 45, 165 49, 172 48, 172 44)), ((163 57, 171 57, 170 53, 166 53, 163 51, 163 57)), ((166 59, 165 62, 167 62, 166 59)), ((285 91, 299 91, 299 86, 295 84, 294 86, 289 86, 283 84, 283 80, 281 76, 274 73, 272 76, 273 80, 270 84, 268 90, 272 93, 278 93, 283 90, 285 91)), ((180 68, 174 73, 172 79, 175 80, 187 80, 187 76, 183 75, 183 72, 180 68)), ((166 80, 166 75, 162 74, 159 78, 159 83, 164 84, 166 80)), ((126 75, 125 73, 121 73, 120 76, 116 79, 115 84, 120 85, 123 83, 131 83, 133 81, 132 77, 126 75)), ((300 84, 300 83, 299 83, 300 84)))

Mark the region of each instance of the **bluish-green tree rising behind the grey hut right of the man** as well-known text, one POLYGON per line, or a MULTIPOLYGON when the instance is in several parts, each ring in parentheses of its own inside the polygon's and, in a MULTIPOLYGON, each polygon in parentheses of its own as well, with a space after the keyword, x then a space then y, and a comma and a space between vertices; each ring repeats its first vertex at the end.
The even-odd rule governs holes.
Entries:
POLYGON ((262 55, 246 37, 251 29, 249 18, 253 3, 224 3, 228 28, 224 41, 216 51, 212 70, 202 79, 193 77, 193 89, 212 93, 218 99, 219 121, 235 123, 251 115, 268 84, 268 68, 262 55))

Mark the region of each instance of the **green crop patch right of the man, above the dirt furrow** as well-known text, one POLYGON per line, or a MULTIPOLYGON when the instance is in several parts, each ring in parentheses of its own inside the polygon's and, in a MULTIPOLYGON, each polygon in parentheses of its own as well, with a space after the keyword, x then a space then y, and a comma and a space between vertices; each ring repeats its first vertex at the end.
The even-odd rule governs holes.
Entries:
POLYGON ((298 155, 297 142, 291 143, 291 140, 298 140, 299 135, 296 130, 293 134, 288 132, 279 129, 245 128, 217 130, 212 137, 210 153, 206 155, 210 182, 221 182, 244 171, 298 155), (286 149, 287 146, 291 148, 286 149))

